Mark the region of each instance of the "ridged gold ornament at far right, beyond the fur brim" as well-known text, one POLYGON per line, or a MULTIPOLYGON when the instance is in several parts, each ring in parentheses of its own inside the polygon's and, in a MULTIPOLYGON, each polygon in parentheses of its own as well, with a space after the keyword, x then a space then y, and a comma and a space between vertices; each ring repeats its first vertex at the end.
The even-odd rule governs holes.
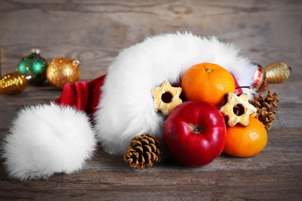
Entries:
POLYGON ((289 77, 291 68, 284 62, 274 62, 264 68, 268 83, 281 83, 289 77))

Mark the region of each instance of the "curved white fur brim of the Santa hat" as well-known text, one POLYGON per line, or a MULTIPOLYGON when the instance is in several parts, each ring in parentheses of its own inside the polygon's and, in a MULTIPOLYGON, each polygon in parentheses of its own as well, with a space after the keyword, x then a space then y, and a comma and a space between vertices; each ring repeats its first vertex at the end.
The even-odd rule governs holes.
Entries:
MULTIPOLYGON (((232 72, 241 86, 251 85, 255 65, 239 55, 233 44, 190 33, 145 39, 120 52, 110 65, 102 87, 96 130, 110 154, 124 154, 134 136, 152 133, 162 139, 165 118, 154 111, 152 88, 164 80, 176 83, 194 64, 210 62, 232 72)), ((243 89, 252 97, 255 92, 243 89)))

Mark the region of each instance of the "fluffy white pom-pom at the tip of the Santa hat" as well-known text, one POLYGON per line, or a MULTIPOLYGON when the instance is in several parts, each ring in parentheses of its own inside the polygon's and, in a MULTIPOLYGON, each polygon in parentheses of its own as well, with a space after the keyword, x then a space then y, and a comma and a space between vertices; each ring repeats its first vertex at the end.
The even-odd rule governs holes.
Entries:
POLYGON ((39 179, 81 169, 95 148, 86 114, 51 103, 29 106, 17 114, 2 157, 11 178, 39 179))

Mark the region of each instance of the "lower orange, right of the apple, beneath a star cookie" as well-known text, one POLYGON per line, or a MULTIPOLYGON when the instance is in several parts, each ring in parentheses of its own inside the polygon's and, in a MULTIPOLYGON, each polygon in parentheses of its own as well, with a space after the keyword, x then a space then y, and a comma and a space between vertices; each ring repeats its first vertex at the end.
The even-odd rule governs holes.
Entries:
POLYGON ((249 157, 259 153, 267 143, 263 124, 250 116, 249 126, 239 124, 226 127, 226 144, 223 152, 236 157, 249 157))

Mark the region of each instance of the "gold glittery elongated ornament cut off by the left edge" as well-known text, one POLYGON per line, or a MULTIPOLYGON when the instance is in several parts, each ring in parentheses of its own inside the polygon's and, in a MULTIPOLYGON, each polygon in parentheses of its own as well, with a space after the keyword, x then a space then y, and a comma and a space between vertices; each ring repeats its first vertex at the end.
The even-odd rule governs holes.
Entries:
MULTIPOLYGON (((28 76, 28 78, 31 78, 28 76)), ((27 79, 21 72, 12 72, 0 79, 0 94, 13 95, 21 93, 27 86, 27 79)))

